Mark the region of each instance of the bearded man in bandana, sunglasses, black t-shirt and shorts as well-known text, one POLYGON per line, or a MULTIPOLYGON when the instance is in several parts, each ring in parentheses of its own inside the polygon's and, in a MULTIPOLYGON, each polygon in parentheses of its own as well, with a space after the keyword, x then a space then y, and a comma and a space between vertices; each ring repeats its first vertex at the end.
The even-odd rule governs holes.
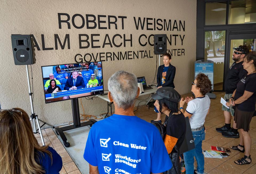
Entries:
MULTIPOLYGON (((234 63, 230 66, 227 71, 227 75, 225 78, 225 96, 224 99, 226 101, 232 100, 232 94, 237 88, 237 83, 241 80, 245 74, 246 70, 243 69, 243 60, 245 56, 249 53, 249 49, 246 45, 240 45, 237 48, 233 48, 235 51, 233 52, 233 61, 234 63)), ((221 128, 216 128, 217 132, 222 133, 223 137, 227 138, 239 138, 239 133, 236 129, 236 124, 233 121, 233 128, 231 128, 231 116, 234 116, 234 108, 231 106, 226 108, 222 105, 222 111, 225 118, 225 125, 221 128)))

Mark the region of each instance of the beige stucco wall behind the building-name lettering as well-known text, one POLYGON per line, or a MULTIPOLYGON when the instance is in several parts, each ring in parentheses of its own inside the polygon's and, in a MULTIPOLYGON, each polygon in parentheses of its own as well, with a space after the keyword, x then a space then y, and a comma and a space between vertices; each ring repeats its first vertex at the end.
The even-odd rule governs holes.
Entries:
MULTIPOLYGON (((11 34, 33 34, 38 42, 41 51, 36 50, 36 63, 32 65, 34 84, 34 111, 41 120, 52 125, 62 124, 72 120, 71 102, 62 101, 45 104, 42 90, 41 66, 75 63, 75 54, 138 51, 147 50, 153 53, 153 46, 147 44, 140 46, 138 37, 141 34, 185 35, 183 45, 177 37, 177 45, 167 43, 167 49, 185 49, 185 56, 173 56, 172 65, 176 67, 174 84, 180 94, 190 91, 191 80, 193 80, 194 61, 196 60, 196 1, 172 0, 172 1, 1 1, 0 2, 0 52, 1 52, 1 90, 0 102, 2 109, 20 107, 29 114, 30 102, 27 88, 25 66, 14 65, 13 52, 11 48, 11 34), (121 28, 121 20, 118 20, 118 29, 76 29, 71 24, 67 29, 63 24, 62 29, 58 26, 58 13, 67 13, 71 17, 74 14, 93 15, 114 15, 127 16, 124 20, 124 29, 121 28), (147 31, 136 30, 133 17, 156 18, 185 21, 185 31, 147 31), (105 34, 126 34, 130 38, 133 35, 133 46, 128 43, 126 47, 110 48, 87 48, 79 49, 78 34, 100 34, 98 45, 102 46, 105 34), (41 34, 44 34, 46 47, 54 47, 54 34, 64 39, 65 34, 70 35, 70 49, 42 50, 41 34)), ((71 22, 71 21, 70 21, 71 22)), ((78 21, 79 23, 79 21, 78 21)), ((172 22, 173 24, 173 22, 172 22)), ((106 24, 103 24, 106 26, 106 24)), ((120 40, 122 41, 122 40, 120 40)), ((145 42, 145 40, 142 40, 145 42)), ((153 42, 153 37, 151 39, 153 42)), ((118 70, 125 70, 134 73, 137 77, 145 76, 147 83, 151 83, 155 73, 154 58, 105 61, 103 62, 104 81, 107 84, 109 77, 118 70)), ((162 63, 162 61, 161 61, 162 63)), ((31 72, 30 72, 31 78, 31 72)), ((107 86, 105 85, 105 89, 107 86)), ((148 96, 148 95, 147 95, 148 96)), ((147 96, 140 97, 140 99, 147 96)), ((99 115, 106 111, 106 102, 100 98, 86 100, 81 98, 85 113, 99 115)), ((80 102, 80 99, 79 99, 80 102)), ((138 103, 138 102, 137 102, 138 103)), ((143 103, 141 103, 143 104, 143 103)), ((144 103, 145 104, 145 103, 144 103)), ((79 104, 80 113, 82 106, 79 104)))

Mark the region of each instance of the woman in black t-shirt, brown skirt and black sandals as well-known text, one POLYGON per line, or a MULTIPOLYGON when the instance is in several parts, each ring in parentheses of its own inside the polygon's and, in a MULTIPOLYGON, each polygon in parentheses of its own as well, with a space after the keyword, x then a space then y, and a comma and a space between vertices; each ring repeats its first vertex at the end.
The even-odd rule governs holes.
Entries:
POLYGON ((243 68, 248 72, 237 83, 237 89, 233 92, 227 106, 235 105, 234 121, 237 129, 240 129, 240 143, 230 148, 244 152, 245 156, 235 163, 239 165, 251 163, 251 136, 249 133, 250 122, 255 112, 256 104, 256 55, 249 54, 245 57, 243 68))

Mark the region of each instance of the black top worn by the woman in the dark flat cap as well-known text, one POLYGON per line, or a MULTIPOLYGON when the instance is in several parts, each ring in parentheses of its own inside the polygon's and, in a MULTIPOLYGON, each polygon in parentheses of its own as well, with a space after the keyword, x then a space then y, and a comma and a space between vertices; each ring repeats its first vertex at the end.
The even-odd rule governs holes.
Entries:
MULTIPOLYGON (((172 114, 172 113, 170 113, 172 114)), ((186 135, 186 121, 183 113, 173 114, 169 117, 165 117, 164 126, 166 126, 166 135, 175 137, 178 139, 176 145, 178 148, 181 147, 181 144, 186 135), (170 118, 169 118, 170 117, 170 118)))

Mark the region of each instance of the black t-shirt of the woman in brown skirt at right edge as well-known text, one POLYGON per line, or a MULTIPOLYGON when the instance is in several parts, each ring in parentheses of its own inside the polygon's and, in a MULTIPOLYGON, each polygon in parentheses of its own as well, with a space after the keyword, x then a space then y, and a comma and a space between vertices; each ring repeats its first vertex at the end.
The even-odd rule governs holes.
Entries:
POLYGON ((244 76, 237 83, 237 90, 235 91, 234 99, 237 100, 243 95, 245 91, 253 92, 253 95, 249 99, 245 100, 243 103, 236 104, 236 107, 240 111, 255 111, 256 104, 256 73, 244 76))

